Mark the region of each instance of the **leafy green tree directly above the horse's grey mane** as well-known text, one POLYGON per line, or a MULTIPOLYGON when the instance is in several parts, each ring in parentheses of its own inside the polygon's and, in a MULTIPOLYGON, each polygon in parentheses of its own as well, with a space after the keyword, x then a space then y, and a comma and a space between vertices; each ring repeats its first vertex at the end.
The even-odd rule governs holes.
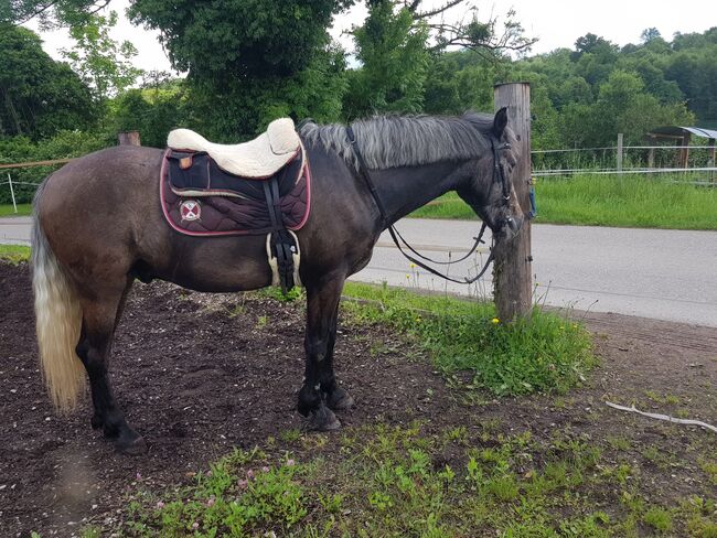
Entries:
POLYGON ((505 60, 506 51, 526 51, 535 42, 523 35, 513 11, 500 30, 496 18, 478 20, 470 0, 446 0, 427 9, 424 0, 371 0, 367 6, 366 21, 353 30, 362 66, 350 73, 344 98, 349 118, 373 112, 490 108, 493 67, 505 60), (454 8, 461 8, 464 17, 448 22, 454 8), (470 14, 468 20, 465 13, 470 14), (470 54, 451 56, 449 47, 470 54), (461 57, 473 68, 459 66, 458 76, 452 65, 461 57))

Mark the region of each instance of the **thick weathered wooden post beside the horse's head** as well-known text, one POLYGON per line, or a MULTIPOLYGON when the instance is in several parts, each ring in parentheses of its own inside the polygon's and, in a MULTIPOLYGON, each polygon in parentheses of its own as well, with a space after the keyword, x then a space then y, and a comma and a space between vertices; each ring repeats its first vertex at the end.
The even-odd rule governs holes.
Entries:
POLYGON ((507 125, 517 138, 521 159, 513 172, 513 186, 526 216, 517 237, 499 244, 493 265, 495 309, 501 321, 510 322, 527 315, 533 304, 533 269, 531 257, 531 85, 499 84, 493 92, 495 110, 507 108, 507 125))

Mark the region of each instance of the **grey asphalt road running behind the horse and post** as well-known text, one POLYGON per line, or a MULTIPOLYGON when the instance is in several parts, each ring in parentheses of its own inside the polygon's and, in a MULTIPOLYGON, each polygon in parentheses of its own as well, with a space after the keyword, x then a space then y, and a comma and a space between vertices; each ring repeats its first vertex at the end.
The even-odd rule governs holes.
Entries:
MULTIPOLYGON (((398 228, 424 254, 447 260, 465 254, 479 225, 411 218, 398 228)), ((30 218, 0 218, 1 243, 29 238, 30 218)), ((450 275, 475 275, 485 256, 483 247, 450 275)), ((717 327, 717 232, 534 225, 533 258, 541 303, 717 327)), ((484 298, 492 291, 490 270, 468 287, 411 268, 387 234, 352 279, 484 298)))

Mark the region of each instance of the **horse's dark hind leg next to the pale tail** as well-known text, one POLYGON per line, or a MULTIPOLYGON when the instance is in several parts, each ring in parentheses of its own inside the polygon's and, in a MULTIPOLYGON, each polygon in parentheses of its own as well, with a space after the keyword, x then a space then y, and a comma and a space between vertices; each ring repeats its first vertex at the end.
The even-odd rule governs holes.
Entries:
POLYGON ((120 297, 83 301, 83 325, 77 344, 77 356, 85 365, 89 377, 95 408, 93 428, 101 428, 105 437, 113 440, 118 450, 141 453, 147 450, 147 445, 143 439, 129 427, 125 415, 117 406, 107 372, 115 329, 119 323, 130 286, 131 282, 127 284, 120 297))

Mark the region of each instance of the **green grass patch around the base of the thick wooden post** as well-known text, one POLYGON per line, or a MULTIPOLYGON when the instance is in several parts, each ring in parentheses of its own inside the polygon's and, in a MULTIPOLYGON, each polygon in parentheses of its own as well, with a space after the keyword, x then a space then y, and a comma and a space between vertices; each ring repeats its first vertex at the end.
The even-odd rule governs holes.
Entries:
POLYGON ((503 323, 490 303, 354 282, 344 294, 364 300, 343 304, 349 320, 402 331, 449 380, 469 372, 468 388, 497 395, 565 392, 596 364, 581 325, 538 308, 526 319, 503 323))

